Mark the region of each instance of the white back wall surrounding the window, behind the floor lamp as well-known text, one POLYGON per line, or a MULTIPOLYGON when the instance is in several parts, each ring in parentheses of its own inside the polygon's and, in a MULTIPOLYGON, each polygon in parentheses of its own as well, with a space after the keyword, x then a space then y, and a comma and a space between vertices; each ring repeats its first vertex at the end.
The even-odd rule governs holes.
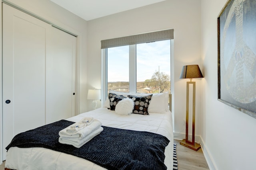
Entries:
MULTIPOLYGON (((88 21, 88 88, 101 87, 101 44, 104 39, 174 29, 174 131, 185 133, 186 81, 183 65, 201 65, 200 0, 166 0, 157 4, 88 21), (183 130, 183 131, 182 131, 183 130)), ((203 68, 201 67, 202 71, 203 68)), ((196 79, 196 135, 200 135, 200 86, 196 79)), ((88 101, 88 106, 91 101, 88 101)), ((100 103, 98 103, 100 107, 100 103)), ((89 107, 90 109, 90 107, 89 107)), ((182 137, 181 137, 182 139, 182 137)))

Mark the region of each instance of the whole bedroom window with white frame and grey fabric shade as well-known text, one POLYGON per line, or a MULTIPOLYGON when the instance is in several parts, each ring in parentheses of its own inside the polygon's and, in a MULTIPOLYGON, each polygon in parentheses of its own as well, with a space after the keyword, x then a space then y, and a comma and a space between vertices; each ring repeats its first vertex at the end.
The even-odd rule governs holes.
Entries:
POLYGON ((173 29, 102 40, 102 97, 108 90, 170 92, 172 39, 173 29))

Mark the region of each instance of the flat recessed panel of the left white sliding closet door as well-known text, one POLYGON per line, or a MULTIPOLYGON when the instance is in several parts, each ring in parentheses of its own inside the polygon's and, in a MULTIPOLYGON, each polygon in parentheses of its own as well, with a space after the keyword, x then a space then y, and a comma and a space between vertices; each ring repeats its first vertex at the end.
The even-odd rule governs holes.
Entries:
POLYGON ((15 17, 13 30, 13 123, 16 134, 45 123, 46 29, 15 17))

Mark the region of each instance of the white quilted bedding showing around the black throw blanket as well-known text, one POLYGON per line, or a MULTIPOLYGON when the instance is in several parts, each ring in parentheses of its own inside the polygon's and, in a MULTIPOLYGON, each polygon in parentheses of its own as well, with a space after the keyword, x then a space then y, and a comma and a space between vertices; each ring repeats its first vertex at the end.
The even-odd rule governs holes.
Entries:
MULTIPOLYGON (((69 121, 80 121, 82 117, 94 117, 102 121, 103 126, 129 129, 135 131, 148 131, 167 137, 170 143, 165 149, 164 164, 168 170, 173 169, 173 130, 172 115, 165 113, 150 113, 150 115, 118 115, 106 107, 82 113, 71 117, 69 121)), ((62 152, 44 148, 18 148, 8 150, 5 167, 15 170, 102 170, 98 166, 83 158, 78 158, 62 152)))

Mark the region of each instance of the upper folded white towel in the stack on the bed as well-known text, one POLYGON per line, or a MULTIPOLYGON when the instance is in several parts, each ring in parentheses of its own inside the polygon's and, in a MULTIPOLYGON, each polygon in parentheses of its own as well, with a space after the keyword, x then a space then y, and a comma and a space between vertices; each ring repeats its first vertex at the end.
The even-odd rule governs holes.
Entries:
POLYGON ((86 137, 87 135, 89 135, 90 133, 92 133, 93 131, 98 129, 99 127, 101 127, 101 125, 102 125, 102 123, 100 120, 94 119, 90 125, 87 125, 80 131, 77 131, 75 133, 67 132, 66 130, 70 129, 70 126, 72 126, 72 125, 70 125, 70 126, 66 127, 65 129, 62 129, 61 131, 59 131, 59 135, 60 135, 60 137, 83 139, 84 137, 86 137))

